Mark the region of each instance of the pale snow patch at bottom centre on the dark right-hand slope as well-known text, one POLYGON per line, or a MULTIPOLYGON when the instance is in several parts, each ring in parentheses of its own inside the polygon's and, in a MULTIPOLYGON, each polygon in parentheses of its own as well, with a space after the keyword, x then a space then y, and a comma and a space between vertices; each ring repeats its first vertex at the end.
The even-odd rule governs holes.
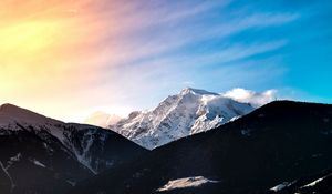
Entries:
POLYGON ((167 184, 157 190, 157 192, 166 192, 178 188, 198 187, 207 183, 218 183, 218 181, 208 180, 204 176, 191 176, 168 181, 167 184))

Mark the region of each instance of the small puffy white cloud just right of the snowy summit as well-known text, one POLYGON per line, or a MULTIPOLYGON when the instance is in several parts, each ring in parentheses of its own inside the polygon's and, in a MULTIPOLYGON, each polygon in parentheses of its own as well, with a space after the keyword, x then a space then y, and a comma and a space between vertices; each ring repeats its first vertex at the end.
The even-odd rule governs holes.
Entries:
POLYGON ((222 94, 224 96, 231 98, 239 102, 250 103, 253 106, 261 106, 277 98, 277 90, 267 90, 264 92, 255 92, 251 90, 246 90, 241 88, 236 88, 227 91, 222 94))

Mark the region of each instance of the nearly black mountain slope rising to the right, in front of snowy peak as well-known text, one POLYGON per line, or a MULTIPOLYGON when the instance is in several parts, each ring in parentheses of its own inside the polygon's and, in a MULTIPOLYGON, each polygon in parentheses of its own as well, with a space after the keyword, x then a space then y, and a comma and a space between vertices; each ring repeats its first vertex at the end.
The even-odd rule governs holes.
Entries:
MULTIPOLYGON (((270 188, 331 167, 332 105, 276 101, 83 181, 71 193, 276 193, 270 188)), ((320 177, 329 193, 331 176, 320 177)))

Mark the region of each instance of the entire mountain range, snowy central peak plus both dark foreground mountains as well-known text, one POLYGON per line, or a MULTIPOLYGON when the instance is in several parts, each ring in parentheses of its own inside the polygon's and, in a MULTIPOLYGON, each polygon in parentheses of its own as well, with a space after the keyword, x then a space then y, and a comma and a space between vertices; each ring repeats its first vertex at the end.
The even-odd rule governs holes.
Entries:
POLYGON ((111 130, 1 105, 0 193, 332 191, 329 104, 276 101, 255 110, 185 89, 112 129, 148 150, 111 130))

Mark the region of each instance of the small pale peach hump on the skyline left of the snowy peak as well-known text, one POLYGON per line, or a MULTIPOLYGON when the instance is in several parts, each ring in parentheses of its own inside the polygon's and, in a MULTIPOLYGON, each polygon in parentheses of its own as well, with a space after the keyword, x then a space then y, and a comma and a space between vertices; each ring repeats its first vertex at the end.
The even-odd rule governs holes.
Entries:
POLYGON ((115 114, 107 114, 98 111, 86 118, 84 123, 106 127, 116 124, 120 120, 121 118, 115 114))

